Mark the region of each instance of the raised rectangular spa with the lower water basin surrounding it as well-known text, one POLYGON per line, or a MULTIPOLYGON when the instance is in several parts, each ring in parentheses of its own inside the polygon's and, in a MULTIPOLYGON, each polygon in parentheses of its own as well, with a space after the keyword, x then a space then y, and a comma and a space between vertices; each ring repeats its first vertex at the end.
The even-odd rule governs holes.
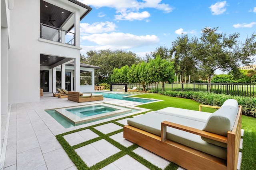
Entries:
POLYGON ((70 128, 122 114, 137 112, 139 109, 100 103, 45 111, 64 128, 70 128))

